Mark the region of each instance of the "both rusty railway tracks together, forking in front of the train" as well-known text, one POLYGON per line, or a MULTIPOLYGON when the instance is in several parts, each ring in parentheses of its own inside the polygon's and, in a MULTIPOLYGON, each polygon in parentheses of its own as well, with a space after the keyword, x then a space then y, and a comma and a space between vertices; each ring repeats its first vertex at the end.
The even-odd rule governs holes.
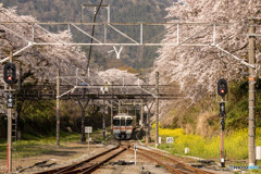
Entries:
MULTIPOLYGON (((82 162, 62 166, 59 169, 53 169, 49 171, 38 172, 36 174, 86 174, 92 173, 98 170, 101 165, 107 163, 108 161, 112 160, 113 158, 117 157, 122 152, 129 150, 134 151, 130 148, 130 141, 119 141, 119 145, 112 149, 109 149, 102 153, 96 154, 87 160, 82 162)), ((165 170, 173 174, 213 174, 208 171, 199 170, 192 167, 190 165, 181 163, 173 157, 170 157, 167 153, 163 152, 156 152, 151 150, 146 150, 138 148, 137 153, 144 156, 146 159, 150 161, 154 161, 156 163, 162 165, 165 170)))

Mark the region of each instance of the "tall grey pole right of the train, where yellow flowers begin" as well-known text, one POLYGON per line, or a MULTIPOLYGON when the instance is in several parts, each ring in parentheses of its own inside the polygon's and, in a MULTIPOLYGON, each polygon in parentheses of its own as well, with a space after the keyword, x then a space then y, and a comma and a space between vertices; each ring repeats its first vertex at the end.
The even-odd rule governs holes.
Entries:
POLYGON ((159 146, 159 72, 156 72, 156 148, 159 146))

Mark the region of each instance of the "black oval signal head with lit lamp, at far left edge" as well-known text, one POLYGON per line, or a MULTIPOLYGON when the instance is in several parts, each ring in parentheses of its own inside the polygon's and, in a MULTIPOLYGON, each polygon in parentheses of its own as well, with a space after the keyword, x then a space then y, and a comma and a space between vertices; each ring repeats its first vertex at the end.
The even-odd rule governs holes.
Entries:
POLYGON ((15 83, 16 78, 16 67, 14 63, 7 63, 3 67, 3 80, 12 85, 15 83))

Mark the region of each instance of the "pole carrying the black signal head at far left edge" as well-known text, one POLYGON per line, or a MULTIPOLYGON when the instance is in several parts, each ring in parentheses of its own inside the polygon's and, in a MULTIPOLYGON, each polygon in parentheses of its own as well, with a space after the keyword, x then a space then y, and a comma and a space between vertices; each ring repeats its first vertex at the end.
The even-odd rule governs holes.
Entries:
MULTIPOLYGON (((13 62, 13 53, 10 52, 10 62, 13 62)), ((9 92, 11 92, 9 86, 9 92)), ((12 109, 8 108, 8 173, 12 173, 12 109)))

